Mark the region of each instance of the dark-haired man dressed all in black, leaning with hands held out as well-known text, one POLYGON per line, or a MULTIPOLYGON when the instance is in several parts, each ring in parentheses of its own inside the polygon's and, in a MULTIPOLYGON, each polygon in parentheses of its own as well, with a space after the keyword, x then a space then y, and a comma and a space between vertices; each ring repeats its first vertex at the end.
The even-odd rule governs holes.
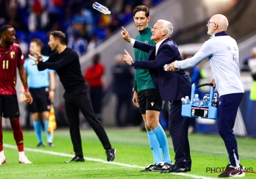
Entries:
POLYGON ((65 89, 63 97, 65 98, 65 110, 67 113, 70 136, 76 156, 67 162, 84 162, 81 135, 79 131, 79 110, 90 123, 91 127, 100 139, 100 142, 106 150, 108 161, 115 159, 115 148, 111 147, 108 136, 97 120, 92 109, 92 103, 88 94, 88 86, 84 81, 79 63, 79 56, 76 51, 70 49, 65 44, 66 36, 61 31, 53 31, 49 38, 49 47, 54 52, 47 61, 43 62, 40 54, 36 54, 34 59, 38 70, 46 68, 56 70, 60 81, 65 89))

